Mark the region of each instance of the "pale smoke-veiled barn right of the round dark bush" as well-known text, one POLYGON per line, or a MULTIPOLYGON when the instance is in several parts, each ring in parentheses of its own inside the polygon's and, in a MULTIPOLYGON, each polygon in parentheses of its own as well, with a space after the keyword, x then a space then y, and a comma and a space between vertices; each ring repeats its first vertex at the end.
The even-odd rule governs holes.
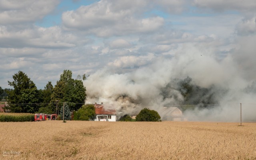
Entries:
POLYGON ((186 121, 178 107, 160 107, 157 112, 162 120, 186 121))

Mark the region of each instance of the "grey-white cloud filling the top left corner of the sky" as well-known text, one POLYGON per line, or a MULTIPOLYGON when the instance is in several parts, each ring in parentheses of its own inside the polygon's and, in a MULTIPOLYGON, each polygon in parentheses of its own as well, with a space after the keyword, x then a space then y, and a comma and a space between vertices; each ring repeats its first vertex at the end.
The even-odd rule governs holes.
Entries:
POLYGON ((59 0, 0 0, 0 25, 35 22, 51 13, 59 0))

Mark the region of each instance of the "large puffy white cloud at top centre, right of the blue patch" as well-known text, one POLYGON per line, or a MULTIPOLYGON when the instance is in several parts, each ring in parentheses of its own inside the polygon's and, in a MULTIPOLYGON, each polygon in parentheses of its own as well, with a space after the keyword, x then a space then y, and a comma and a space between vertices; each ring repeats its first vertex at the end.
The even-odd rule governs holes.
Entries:
POLYGON ((102 0, 89 6, 81 6, 62 14, 62 22, 68 30, 89 30, 97 36, 123 35, 129 33, 152 32, 164 24, 164 19, 155 16, 140 18, 146 2, 114 2, 102 0), (123 4, 127 5, 123 5, 123 4), (131 5, 132 4, 132 5, 131 5), (142 7, 142 10, 138 8, 142 7))

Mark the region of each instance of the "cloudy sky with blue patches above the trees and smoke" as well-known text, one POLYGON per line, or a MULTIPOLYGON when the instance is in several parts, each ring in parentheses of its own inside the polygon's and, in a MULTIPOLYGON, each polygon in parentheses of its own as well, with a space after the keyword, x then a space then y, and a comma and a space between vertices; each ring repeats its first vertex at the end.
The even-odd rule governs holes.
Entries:
MULTIPOLYGON (((236 68, 246 82, 255 79, 254 0, 245 3, 240 0, 0 0, 0 3, 2 88, 9 88, 8 80, 19 70, 38 88, 44 88, 48 81, 56 84, 66 69, 72 70, 74 78, 102 70, 122 75, 150 68, 162 59, 184 65, 173 75, 191 76, 202 85, 216 83, 217 80, 205 80, 200 75, 215 72, 218 67, 201 74, 193 70, 196 68, 186 67, 201 54, 210 62, 227 63, 229 67, 224 68, 236 68)), ((207 68, 204 66, 207 63, 199 64, 207 68)), ((229 70, 224 73, 228 72, 231 73, 229 70)))

